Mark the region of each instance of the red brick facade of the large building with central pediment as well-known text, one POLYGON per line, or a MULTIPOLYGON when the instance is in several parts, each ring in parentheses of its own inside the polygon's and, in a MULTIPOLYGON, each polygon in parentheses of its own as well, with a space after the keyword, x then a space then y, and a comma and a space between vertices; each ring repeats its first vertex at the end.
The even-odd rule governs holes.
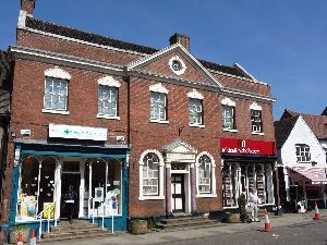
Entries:
MULTIPOLYGON (((56 26, 56 24, 51 25, 56 26)), ((11 103, 11 139, 4 189, 10 189, 12 181, 15 149, 13 139, 47 142, 49 140, 49 123, 105 127, 108 128, 109 135, 108 140, 102 144, 122 144, 116 140, 116 136, 124 136, 126 140, 124 144, 132 146, 129 164, 130 217, 165 215, 165 199, 138 199, 140 156, 147 149, 162 152, 162 147, 177 138, 190 144, 197 150, 197 154, 207 151, 214 157, 216 183, 213 184, 216 185, 217 196, 211 198, 196 197, 195 201, 199 212, 220 210, 222 209, 222 176, 219 139, 230 137, 275 140, 271 105, 274 99, 270 98, 268 85, 210 70, 213 77, 216 77, 226 88, 242 90, 245 95, 228 94, 213 81, 209 81, 208 76, 205 75, 208 72, 204 71, 205 68, 192 62, 192 59, 195 58, 187 57, 189 54, 181 51, 180 48, 171 53, 164 52, 157 60, 148 61, 146 65, 141 65, 137 70, 128 71, 126 68, 131 62, 144 59, 149 53, 124 49, 124 47, 132 46, 131 44, 122 45, 120 49, 105 48, 98 44, 74 40, 72 37, 64 36, 64 33, 62 36, 55 36, 51 33, 36 32, 32 27, 17 29, 17 46, 28 48, 29 51, 32 50, 32 54, 24 54, 20 48, 12 50, 15 64, 11 103), (45 54, 40 57, 37 54, 38 51, 45 54), (58 59, 60 56, 64 56, 66 59, 58 59), (179 56, 186 64, 186 71, 181 76, 177 76, 169 68, 169 59, 173 56, 179 56), (72 77, 69 81, 68 91, 69 114, 43 112, 45 71, 55 66, 66 71, 72 77), (154 74, 148 74, 148 72, 154 74), (118 107, 120 120, 97 119, 97 81, 106 75, 112 76, 121 84, 118 107), (149 86, 158 83, 168 89, 167 113, 169 123, 166 124, 149 121, 149 86), (204 127, 191 127, 189 125, 187 93, 192 89, 196 89, 204 96, 204 127), (252 96, 246 96, 250 91, 252 96), (226 97, 234 100, 237 105, 237 133, 222 131, 221 99, 226 97), (254 101, 257 101, 262 107, 264 135, 253 135, 251 132, 250 105, 254 101), (22 128, 29 128, 32 131, 31 137, 21 136, 22 128)), ((187 46, 190 46, 189 39, 187 46)), ((142 48, 135 47, 135 49, 142 48)), ((147 47, 145 49, 147 50, 147 47)), ((155 52, 154 49, 150 54, 155 56, 155 52)), ((10 200, 10 198, 11 193, 4 192, 4 201, 5 199, 7 201, 10 200)), ((4 219, 8 218, 8 209, 9 206, 7 206, 7 210, 3 210, 4 219)))

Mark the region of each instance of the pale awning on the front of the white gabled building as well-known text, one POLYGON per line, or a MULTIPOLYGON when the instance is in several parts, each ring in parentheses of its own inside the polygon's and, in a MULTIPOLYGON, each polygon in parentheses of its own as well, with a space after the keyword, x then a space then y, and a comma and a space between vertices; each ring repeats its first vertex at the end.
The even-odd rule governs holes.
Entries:
POLYGON ((290 170, 296 179, 302 176, 310 180, 313 185, 327 184, 327 168, 293 167, 290 170))

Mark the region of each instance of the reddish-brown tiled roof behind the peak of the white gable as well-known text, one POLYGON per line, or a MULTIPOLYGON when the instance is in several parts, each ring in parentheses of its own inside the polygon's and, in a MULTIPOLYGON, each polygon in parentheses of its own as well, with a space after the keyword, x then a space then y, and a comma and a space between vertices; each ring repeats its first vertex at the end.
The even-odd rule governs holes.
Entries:
POLYGON ((304 114, 286 109, 281 119, 302 115, 305 123, 318 139, 327 139, 327 115, 304 114))

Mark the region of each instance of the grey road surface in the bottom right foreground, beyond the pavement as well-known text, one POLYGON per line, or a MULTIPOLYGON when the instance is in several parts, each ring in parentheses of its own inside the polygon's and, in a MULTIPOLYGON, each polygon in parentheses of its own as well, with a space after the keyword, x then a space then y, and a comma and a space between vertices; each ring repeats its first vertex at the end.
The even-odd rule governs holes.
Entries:
POLYGON ((219 244, 219 245, 326 245, 327 244, 327 223, 298 224, 292 226, 276 228, 271 232, 262 232, 259 230, 238 232, 226 235, 215 235, 207 237, 190 238, 178 242, 167 242, 160 244, 219 244))

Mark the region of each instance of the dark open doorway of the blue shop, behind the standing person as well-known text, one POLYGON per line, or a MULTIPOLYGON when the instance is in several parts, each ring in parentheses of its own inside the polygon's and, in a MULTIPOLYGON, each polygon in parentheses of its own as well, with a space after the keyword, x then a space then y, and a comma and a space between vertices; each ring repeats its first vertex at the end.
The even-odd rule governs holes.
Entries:
POLYGON ((73 218, 78 218, 80 210, 80 184, 81 184, 81 174, 80 173, 62 173, 61 175, 61 206, 60 206, 60 217, 68 218, 69 212, 65 207, 65 196, 69 191, 70 185, 73 186, 73 189, 76 194, 74 203, 74 213, 73 218))

